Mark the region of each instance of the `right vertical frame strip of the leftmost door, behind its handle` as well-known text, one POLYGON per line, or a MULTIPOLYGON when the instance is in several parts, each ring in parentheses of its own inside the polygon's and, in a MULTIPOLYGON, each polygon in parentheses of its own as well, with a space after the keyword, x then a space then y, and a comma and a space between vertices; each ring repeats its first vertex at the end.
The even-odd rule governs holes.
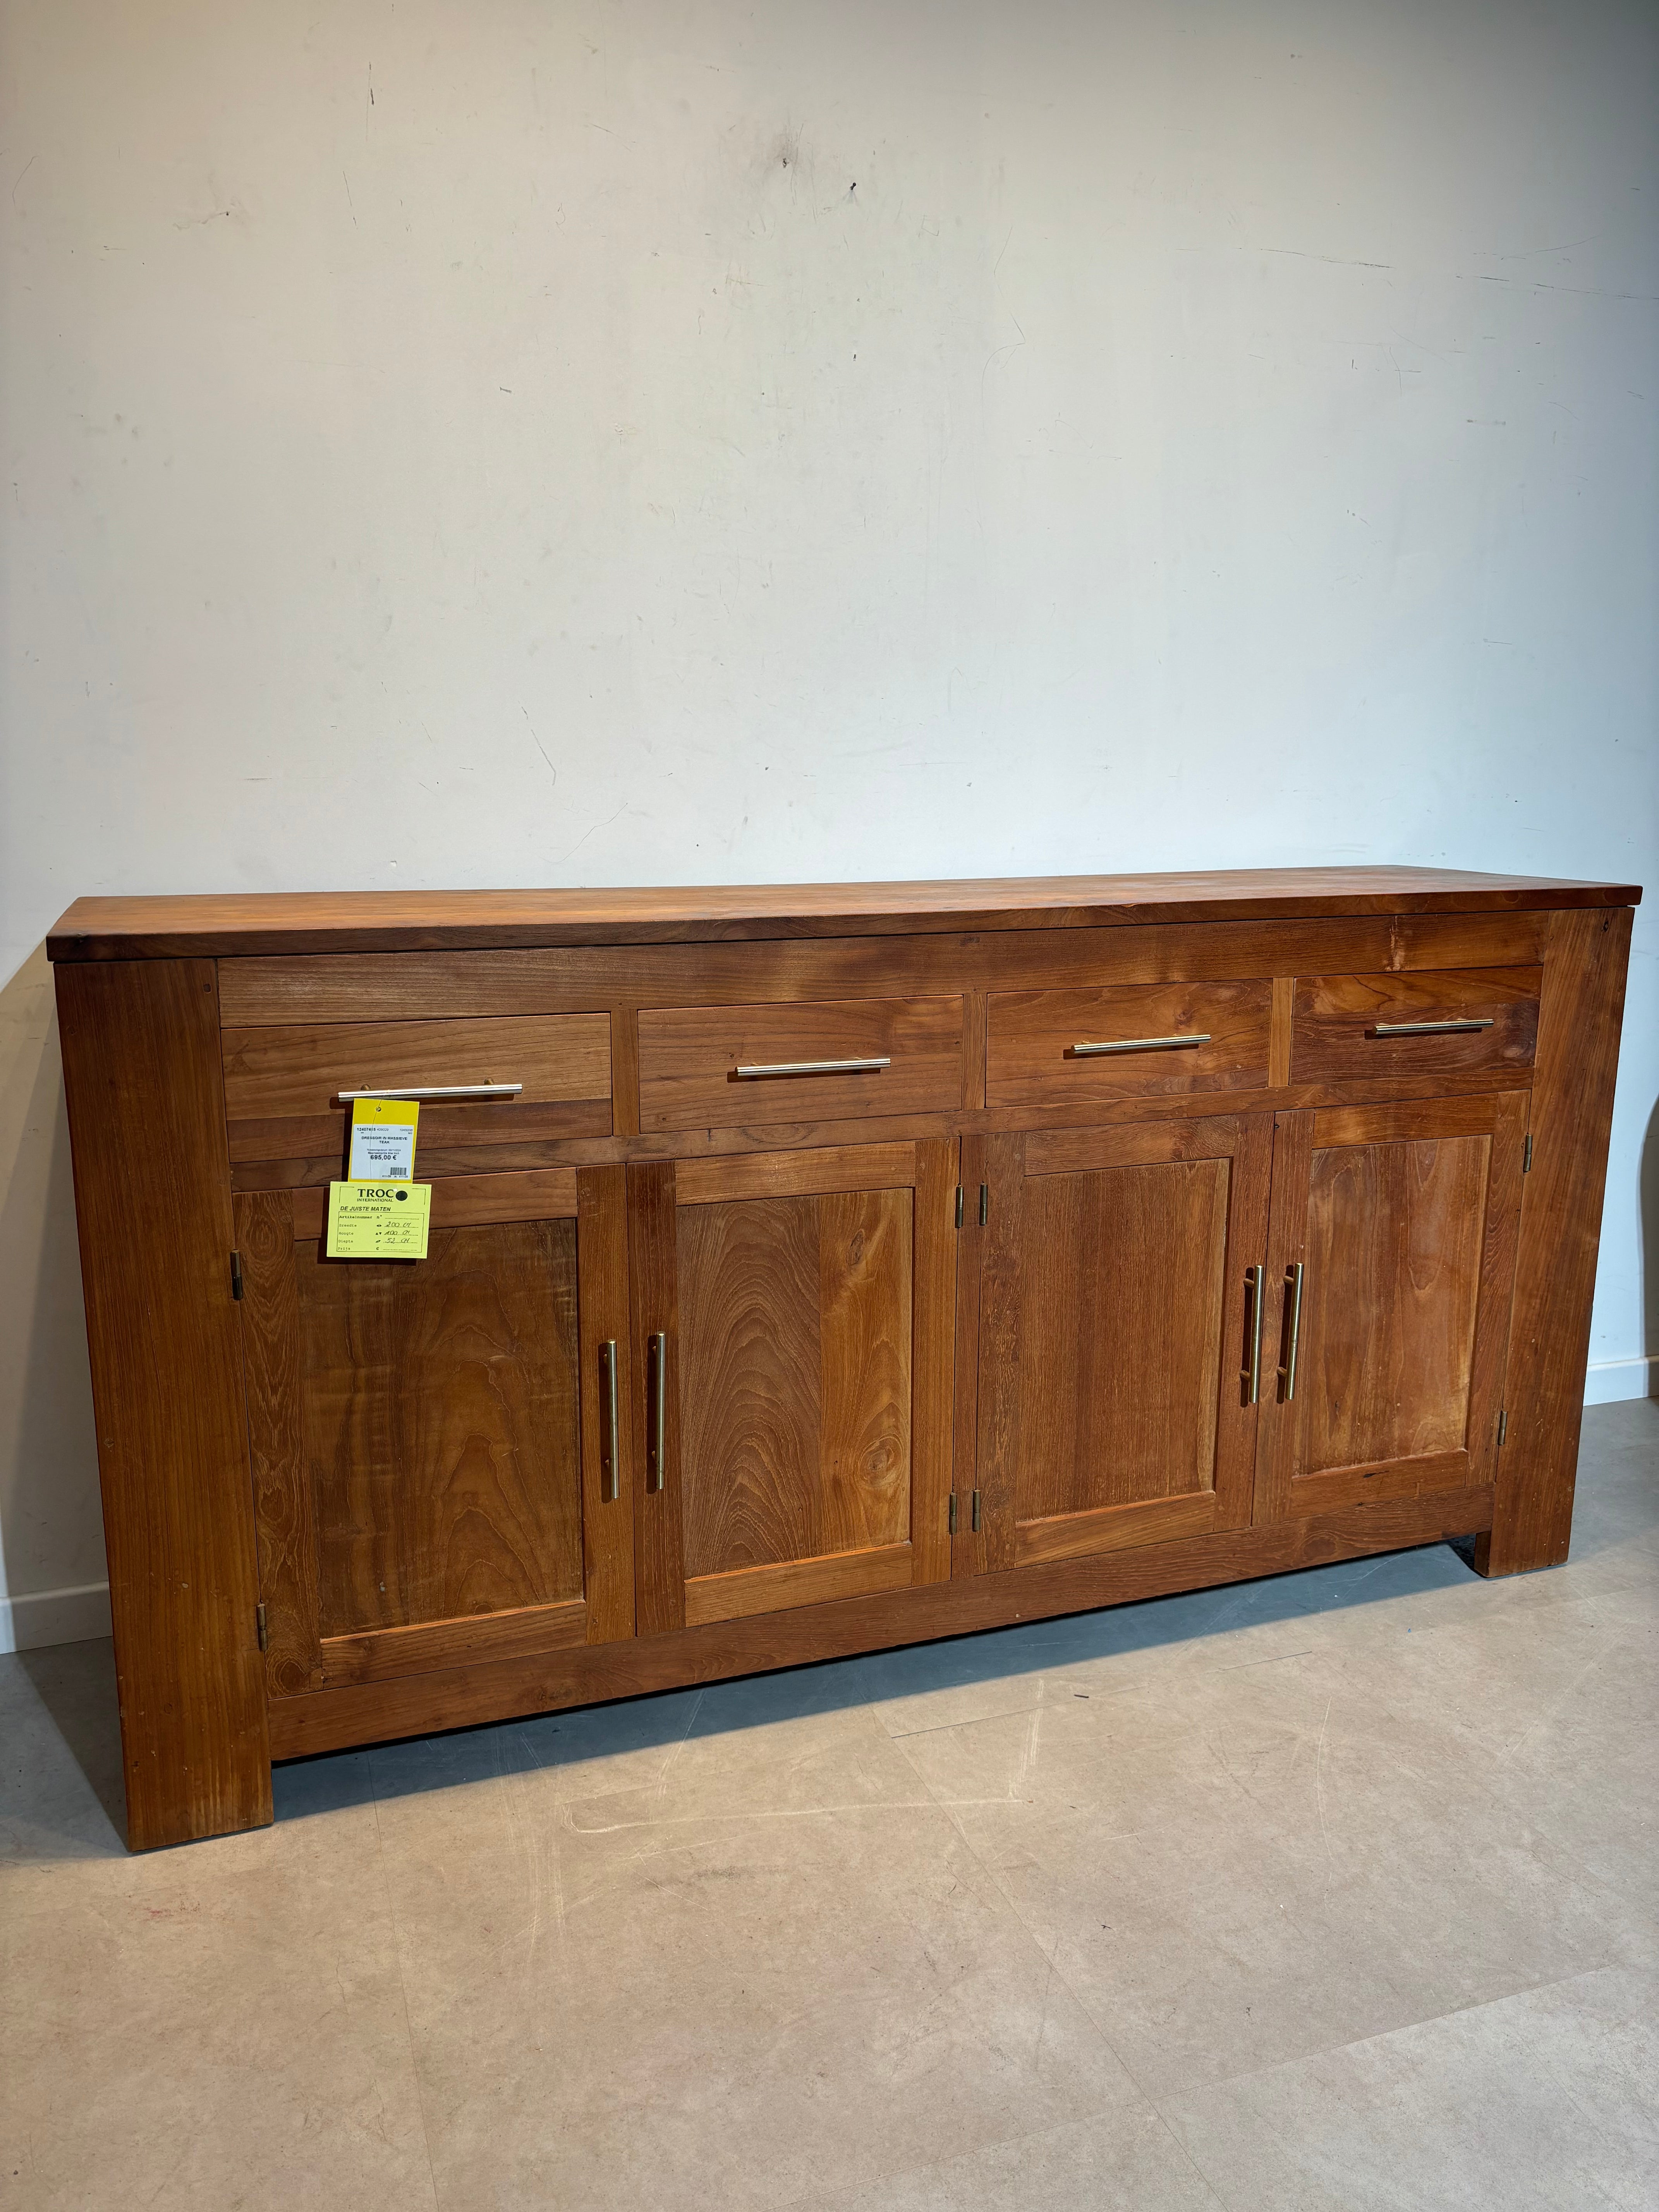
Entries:
POLYGON ((588 1595, 588 1644, 635 1632, 633 1515, 644 1480, 635 1427, 639 1367, 630 1334, 628 1170, 582 1168, 577 1199, 577 1265, 582 1298, 582 1559, 588 1595), (599 1345, 617 1347, 617 1495, 604 1495, 599 1345))

